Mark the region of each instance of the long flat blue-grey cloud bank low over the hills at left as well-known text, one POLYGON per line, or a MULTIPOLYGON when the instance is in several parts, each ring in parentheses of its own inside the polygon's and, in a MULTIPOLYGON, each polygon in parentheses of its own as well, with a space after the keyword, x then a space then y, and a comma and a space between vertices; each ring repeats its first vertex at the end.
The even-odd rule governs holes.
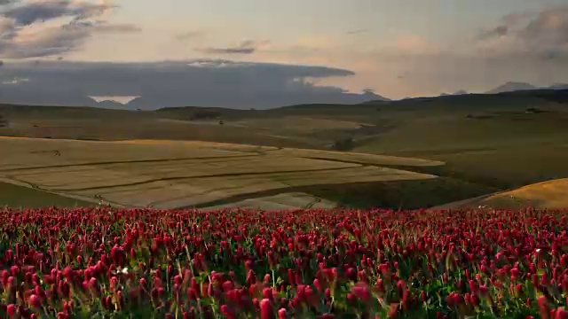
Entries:
POLYGON ((70 61, 12 63, 4 66, 0 102, 28 105, 92 105, 89 96, 139 96, 129 107, 225 106, 258 109, 303 103, 353 104, 375 98, 306 79, 351 76, 349 70, 326 66, 194 60, 160 63, 78 63, 70 61))

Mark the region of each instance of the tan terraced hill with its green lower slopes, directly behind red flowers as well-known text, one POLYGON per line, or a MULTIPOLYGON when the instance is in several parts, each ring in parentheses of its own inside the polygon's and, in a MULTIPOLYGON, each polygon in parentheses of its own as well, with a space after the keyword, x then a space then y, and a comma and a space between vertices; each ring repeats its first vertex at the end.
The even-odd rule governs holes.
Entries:
POLYGON ((9 195, 0 205, 11 206, 33 197, 59 206, 415 208, 488 191, 419 172, 444 165, 439 161, 354 152, 21 137, 0 138, 0 147, 0 190, 9 195))

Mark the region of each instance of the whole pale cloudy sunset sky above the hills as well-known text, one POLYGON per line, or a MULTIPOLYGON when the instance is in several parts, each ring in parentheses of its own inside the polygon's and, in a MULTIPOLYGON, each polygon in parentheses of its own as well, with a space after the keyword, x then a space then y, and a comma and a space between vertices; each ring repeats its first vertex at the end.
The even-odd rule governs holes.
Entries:
MULTIPOLYGON (((47 74, 63 85, 83 83, 86 96, 150 98, 146 85, 154 102, 172 94, 192 105, 184 86, 172 84, 183 80, 200 92, 243 96, 238 107, 342 94, 358 101, 364 89, 403 98, 483 92, 509 81, 548 86, 568 82, 568 1, 0 0, 0 59, 4 96, 3 85, 42 90, 34 76, 47 74), (99 72, 108 63, 112 70, 99 72), (136 78, 116 73, 161 80, 137 87, 136 78), (232 88, 237 79, 246 85, 232 88), (130 86, 100 88, 105 81, 130 86), (290 92, 298 98, 283 98, 290 92)), ((43 89, 38 98, 48 96, 43 89)), ((209 99, 199 103, 231 104, 209 99)))

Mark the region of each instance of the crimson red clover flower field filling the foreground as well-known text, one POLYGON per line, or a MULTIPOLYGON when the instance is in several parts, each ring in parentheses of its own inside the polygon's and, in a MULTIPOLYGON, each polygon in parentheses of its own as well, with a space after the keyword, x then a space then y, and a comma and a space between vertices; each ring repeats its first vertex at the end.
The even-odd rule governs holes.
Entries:
POLYGON ((1 318, 568 318, 568 210, 0 212, 1 318))

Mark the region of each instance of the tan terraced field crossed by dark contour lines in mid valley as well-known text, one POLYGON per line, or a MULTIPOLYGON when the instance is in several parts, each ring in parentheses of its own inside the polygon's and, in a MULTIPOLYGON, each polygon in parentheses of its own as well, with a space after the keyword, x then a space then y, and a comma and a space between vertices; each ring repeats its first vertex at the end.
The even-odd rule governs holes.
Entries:
MULTIPOLYGON (((0 149, 4 153, 0 158, 4 182, 91 203, 156 208, 205 207, 311 185, 430 180, 437 176, 390 166, 444 164, 359 153, 182 141, 5 137, 0 138, 0 149)), ((298 205, 294 196, 284 198, 278 205, 298 205)))

